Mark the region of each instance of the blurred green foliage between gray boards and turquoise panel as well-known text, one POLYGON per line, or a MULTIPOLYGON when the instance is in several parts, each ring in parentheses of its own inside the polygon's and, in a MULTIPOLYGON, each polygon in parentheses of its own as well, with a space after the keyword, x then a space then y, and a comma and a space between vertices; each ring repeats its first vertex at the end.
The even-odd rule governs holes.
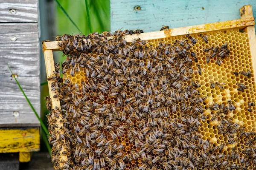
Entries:
MULTIPOLYGON (((89 34, 89 27, 87 23, 87 14, 84 0, 60 0, 61 6, 65 9, 67 14, 76 23, 82 34, 89 34)), ((88 0, 90 8, 90 17, 93 31, 110 31, 110 2, 109 0, 88 0)), ((62 34, 79 34, 80 32, 68 20, 61 8, 56 6, 56 33, 62 34)))

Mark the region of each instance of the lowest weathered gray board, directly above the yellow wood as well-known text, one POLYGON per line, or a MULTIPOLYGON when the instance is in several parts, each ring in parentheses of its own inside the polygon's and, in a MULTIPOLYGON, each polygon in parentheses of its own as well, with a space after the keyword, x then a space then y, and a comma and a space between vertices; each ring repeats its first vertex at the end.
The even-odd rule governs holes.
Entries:
MULTIPOLYGON (((40 126, 15 79, 0 75, 0 80, 0 127, 40 126), (13 116, 14 111, 18 111, 20 116, 13 116)), ((17 80, 40 115, 40 77, 17 77, 17 80)))

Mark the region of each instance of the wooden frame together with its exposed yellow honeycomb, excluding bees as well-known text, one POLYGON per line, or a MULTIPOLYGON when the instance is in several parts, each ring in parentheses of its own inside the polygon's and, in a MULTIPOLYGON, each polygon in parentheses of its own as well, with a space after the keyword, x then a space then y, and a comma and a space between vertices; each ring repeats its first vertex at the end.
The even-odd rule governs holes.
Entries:
MULTIPOLYGON (((243 17, 252 17, 251 11, 245 11, 248 6, 245 6, 241 8, 241 16, 243 17)), ((251 8, 249 8, 251 10, 251 8)), ((255 98, 255 77, 247 78, 243 75, 240 75, 236 77, 233 75, 233 72, 239 72, 242 70, 250 70, 253 74, 253 62, 255 60, 255 50, 252 49, 252 45, 255 45, 255 31, 253 26, 248 25, 254 25, 254 20, 236 20, 236 21, 229 21, 227 23, 221 22, 221 23, 213 23, 209 25, 203 25, 203 26, 194 26, 194 27, 187 27, 187 28, 180 28, 179 31, 175 29, 170 29, 164 31, 164 35, 161 33, 151 33, 151 34, 141 34, 139 37, 143 40, 148 40, 148 44, 153 45, 154 47, 159 44, 160 40, 163 40, 165 42, 173 43, 175 40, 182 40, 184 39, 185 31, 189 31, 192 34, 193 37, 195 37, 198 40, 198 43, 193 47, 193 50, 197 52, 199 63, 202 66, 202 74, 198 75, 195 74, 193 77, 197 82, 201 84, 201 87, 199 88, 199 92, 203 96, 207 96, 206 101, 204 102, 204 105, 206 108, 209 107, 209 105, 212 104, 212 102, 221 104, 227 104, 229 100, 233 101, 233 104, 235 105, 236 109, 233 112, 229 112, 229 114, 225 115, 226 119, 233 119, 233 122, 237 122, 239 125, 244 126, 247 128, 247 130, 253 130, 255 131, 255 117, 253 112, 250 113, 247 111, 247 103, 254 101, 255 98), (232 24, 230 24, 232 23, 232 24), (244 26, 248 26, 244 28, 244 26), (241 29, 243 28, 243 30, 241 29), (184 30, 182 32, 182 30, 184 30), (241 31, 242 30, 242 31, 241 31), (177 31, 177 32, 175 32, 177 31), (201 41, 201 37, 199 35, 201 32, 204 32, 205 35, 209 36, 209 42, 208 44, 201 41), (172 36, 175 35, 175 36, 172 36), (230 49, 230 57, 227 59, 224 59, 220 66, 215 63, 215 60, 211 59, 209 63, 206 61, 206 54, 207 52, 204 52, 204 48, 209 48, 210 46, 221 46, 224 45, 224 43, 227 42, 230 49), (241 65, 239 65, 241 63, 241 65), (210 88, 210 81, 219 82, 222 83, 224 86, 224 90, 221 90, 219 87, 210 88), (247 90, 244 92, 238 91, 237 88, 237 82, 243 83, 246 85, 247 90)), ((127 40, 131 40, 132 38, 137 37, 137 35, 127 37, 127 40)), ((50 76, 50 73, 53 71, 54 66, 53 60, 52 60, 52 50, 58 49, 55 46, 51 46, 52 44, 47 45, 45 43, 45 59, 47 65, 47 75, 50 76), (48 56, 50 55, 50 56, 48 56), (48 58, 49 57, 49 58, 48 58), (51 65, 49 65, 49 61, 51 62, 51 65)), ((95 56, 96 57, 96 56, 95 56)), ((145 62, 148 62, 146 59, 144 59, 145 62)), ((196 70, 196 64, 193 62, 194 70, 196 70)), ((67 72, 69 73, 69 72, 67 72)), ((78 73, 75 73, 74 76, 65 74, 64 78, 70 79, 72 83, 78 83, 81 84, 82 81, 87 82, 88 79, 85 76, 85 72, 81 70, 78 73)), ((254 75, 254 74, 253 74, 254 75)), ((50 84, 50 83, 49 83, 50 84)), ((81 87, 81 85, 80 85, 81 87)), ((124 89, 127 94, 131 94, 132 89, 129 88, 129 86, 125 86, 124 89)), ((92 91, 91 91, 92 92, 92 91)), ((50 92, 51 93, 51 92, 50 92)), ((51 94, 53 95, 53 94, 51 94)), ((115 103, 116 99, 111 99, 105 96, 105 104, 111 104, 115 103)), ((128 96, 130 98, 130 96, 128 96)), ((93 101, 96 101, 97 98, 90 96, 90 99, 93 101)), ((59 103, 57 100, 53 99, 53 106, 58 105, 59 103)), ((171 108, 170 108, 171 109, 171 108)), ((221 143, 226 142, 227 145, 224 147, 224 150, 220 153, 224 153, 227 155, 227 153, 230 153, 230 150, 232 147, 235 147, 236 149, 240 150, 246 148, 245 142, 247 142, 247 139, 244 137, 239 140, 239 143, 236 144, 228 144, 227 137, 224 137, 220 133, 218 133, 217 125, 218 121, 220 121, 220 117, 217 117, 214 121, 209 121, 209 119, 212 118, 211 111, 205 110, 204 113, 207 116, 206 122, 201 122, 202 126, 200 127, 199 132, 203 136, 203 139, 208 139, 210 142, 212 142, 213 146, 219 146, 221 143)), ((171 118, 176 119, 180 116, 180 112, 177 113, 170 113, 169 116, 171 118)), ((136 120, 134 123, 137 123, 136 120)), ((125 123, 121 123, 122 125, 125 125, 125 123)), ((107 131, 104 131, 104 134, 107 136, 107 139, 111 139, 111 136, 107 133, 107 131)), ((125 144, 125 149, 123 150, 124 153, 131 153, 131 150, 139 151, 140 149, 135 147, 134 144, 131 144, 128 142, 128 136, 124 135, 123 137, 118 137, 116 140, 116 144, 125 144)), ((98 149, 93 148, 93 150, 98 149)), ((163 156, 166 156, 167 153, 163 153, 163 156)), ((66 156, 60 156, 60 159, 67 159, 66 156)), ((232 163, 232 162, 231 162, 232 163)), ((234 163, 239 164, 239 160, 235 160, 234 163)), ((160 162, 157 162, 157 166, 160 166, 160 162)), ((142 166, 141 159, 138 159, 137 161, 132 161, 127 163, 127 169, 131 167, 140 167, 142 166)), ((249 169, 253 169, 253 165, 249 167, 249 169)))

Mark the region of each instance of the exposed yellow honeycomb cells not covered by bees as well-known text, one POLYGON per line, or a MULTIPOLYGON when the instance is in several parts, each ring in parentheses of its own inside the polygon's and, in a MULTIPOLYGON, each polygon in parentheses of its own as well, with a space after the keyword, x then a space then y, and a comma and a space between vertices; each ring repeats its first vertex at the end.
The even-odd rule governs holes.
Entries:
MULTIPOLYGON (((201 40, 199 34, 192 34, 192 37, 195 37, 195 39, 197 39, 197 43, 191 49, 191 51, 196 52, 198 56, 198 63, 201 65, 202 68, 202 74, 194 74, 193 78, 201 84, 201 87, 198 88, 201 97, 207 96, 207 99, 204 101, 204 103, 202 103, 202 105, 204 105, 205 107, 204 115, 207 116, 207 120, 205 122, 201 121, 199 133, 201 133, 202 138, 204 140, 212 142, 213 146, 219 146, 222 142, 226 142, 224 150, 222 150, 220 153, 224 153, 225 155, 227 155, 230 154, 232 147, 235 147, 236 150, 238 151, 245 149, 247 147, 245 145, 247 139, 245 137, 242 137, 238 143, 228 144, 227 137, 224 137, 223 135, 221 135, 221 133, 218 133, 217 125, 218 122, 220 121, 220 117, 218 116, 215 121, 209 121, 213 115, 213 112, 208 110, 207 108, 213 102, 218 104, 224 103, 225 105, 227 105, 227 102, 231 100, 236 109, 232 112, 229 111, 228 114, 225 115, 225 119, 232 118, 233 122, 239 123, 240 126, 244 126, 247 130, 256 131, 255 115, 253 114, 253 111, 251 113, 247 111, 247 103, 250 101, 255 102, 254 99, 256 87, 254 78, 247 78, 241 74, 239 74, 239 76, 236 77, 233 74, 234 71, 239 72, 242 70, 250 70, 253 74, 250 48, 248 46, 248 36, 246 33, 240 32, 238 28, 221 31, 210 31, 204 33, 204 35, 209 36, 208 43, 205 43, 203 40, 201 40), (221 47, 221 45, 224 45, 225 42, 227 42, 228 44, 230 56, 222 60, 223 64, 221 64, 221 66, 215 63, 215 59, 210 59, 210 62, 207 64, 207 52, 204 52, 203 49, 215 47, 216 45, 221 47), (224 90, 221 90, 218 86, 216 86, 215 88, 210 88, 211 80, 213 82, 221 83, 224 86, 224 90), (247 89, 245 89, 244 92, 238 91, 238 86, 236 85, 237 82, 246 85, 247 89)), ((176 36, 164 39, 148 40, 148 44, 153 45, 153 47, 156 47, 160 40, 163 40, 163 42, 166 43, 174 43, 175 40, 184 39, 185 36, 176 36)), ((96 56, 96 52, 93 52, 93 57, 96 56)), ((140 62, 140 60, 144 60, 146 63, 148 62, 147 59, 138 59, 138 62, 140 62)), ((195 61, 193 60, 194 71, 197 70, 196 65, 198 63, 195 63, 195 61)), ((67 73, 64 74, 63 77, 69 79, 73 84, 77 83, 80 88, 81 82, 88 81, 86 71, 83 69, 81 69, 79 72, 75 72, 75 75, 73 77, 70 75, 70 71, 67 71, 67 73)), ((188 83, 190 82, 188 81, 188 83)), ((124 84, 124 86, 124 90, 128 95, 127 98, 132 97, 132 89, 129 88, 127 84, 124 84)), ((87 92, 93 93, 93 91, 91 90, 87 92)), ((108 98, 107 94, 104 94, 104 96, 104 104, 113 104, 117 102, 116 98, 108 98)), ((91 101, 96 101, 97 99, 99 99, 94 96, 89 96, 89 98, 91 99, 91 101)), ((122 109, 123 108, 121 108, 121 110, 122 109)), ((129 115, 126 116, 128 117, 129 115)), ((176 114, 170 113, 169 116, 172 119, 176 119, 180 116, 180 112, 177 112, 176 114)), ((136 119, 134 120, 134 124, 137 124, 136 119)), ((120 122, 120 125, 126 125, 126 122, 120 122)), ((103 133, 105 136, 107 136, 108 140, 111 140, 111 136, 109 135, 107 130, 104 130, 103 133)), ((115 140, 115 142, 117 145, 121 143, 125 145, 124 150, 122 150, 122 153, 124 154, 131 153, 131 150, 140 150, 140 147, 137 148, 134 144, 131 144, 129 142, 127 133, 124 134, 122 137, 118 137, 115 140)), ((96 149, 98 149, 97 146, 92 148, 92 150, 96 149)), ((163 156, 166 156, 167 154, 168 153, 163 153, 163 156)), ((137 161, 133 160, 131 162, 125 163, 126 169, 136 166, 140 167, 143 165, 141 158, 139 158, 137 161)), ((230 162, 230 164, 232 163, 240 164, 239 160, 236 159, 233 159, 233 161, 230 162)), ((159 167, 163 167, 160 162, 157 162, 156 165, 159 167)), ((248 168, 253 169, 253 164, 250 164, 250 167, 248 168)))

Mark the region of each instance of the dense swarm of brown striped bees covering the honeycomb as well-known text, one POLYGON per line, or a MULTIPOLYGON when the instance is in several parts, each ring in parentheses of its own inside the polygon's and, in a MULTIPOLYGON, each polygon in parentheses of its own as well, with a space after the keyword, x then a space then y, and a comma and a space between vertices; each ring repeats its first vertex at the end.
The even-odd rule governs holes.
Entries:
MULTIPOLYGON (((140 38, 126 42, 125 35, 140 33, 143 30, 56 37, 67 59, 62 70, 55 63, 48 78, 53 80, 53 97, 61 103, 61 108, 52 107, 46 97, 55 169, 246 170, 250 164, 256 166, 255 132, 225 118, 236 109, 233 102, 204 107, 207 97, 198 92, 201 85, 194 79, 194 74, 202 74, 192 50, 198 40, 187 34, 172 44, 160 40, 153 46, 140 38), (67 75, 75 77, 81 72, 84 81, 68 79, 67 75), (206 109, 211 117, 205 115, 206 109), (63 127, 58 127, 59 118, 63 127), (213 145, 203 139, 199 133, 202 122, 213 121, 228 142, 213 145), (228 144, 236 144, 242 137, 248 147, 223 153, 228 144), (60 160, 60 155, 68 159, 60 160)), ((207 36, 200 37, 208 42, 207 36)), ((227 44, 204 51, 209 59, 219 57, 217 64, 229 54, 227 44)), ((224 89, 213 81, 210 87, 224 89)), ((238 87, 246 88, 243 84, 238 87)))

